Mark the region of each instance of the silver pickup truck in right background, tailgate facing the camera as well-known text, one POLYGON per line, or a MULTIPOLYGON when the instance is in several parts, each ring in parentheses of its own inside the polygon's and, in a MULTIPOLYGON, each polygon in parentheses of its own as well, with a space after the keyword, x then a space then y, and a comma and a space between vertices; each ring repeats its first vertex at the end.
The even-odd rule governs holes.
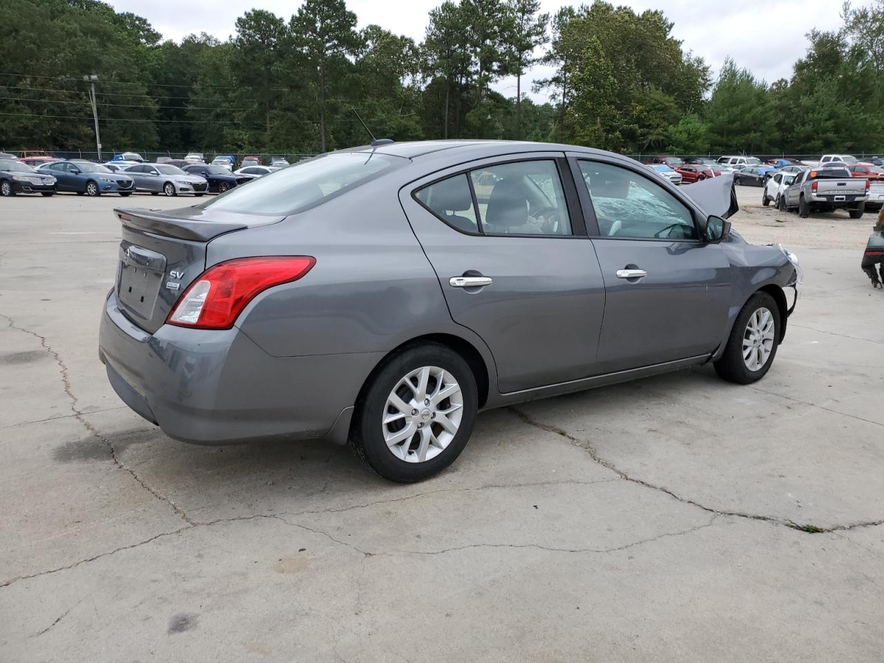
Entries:
POLYGON ((815 211, 840 209, 847 209, 850 218, 860 218, 865 213, 870 188, 868 179, 850 177, 846 168, 812 168, 798 173, 782 197, 786 210, 797 209, 802 218, 815 211))

